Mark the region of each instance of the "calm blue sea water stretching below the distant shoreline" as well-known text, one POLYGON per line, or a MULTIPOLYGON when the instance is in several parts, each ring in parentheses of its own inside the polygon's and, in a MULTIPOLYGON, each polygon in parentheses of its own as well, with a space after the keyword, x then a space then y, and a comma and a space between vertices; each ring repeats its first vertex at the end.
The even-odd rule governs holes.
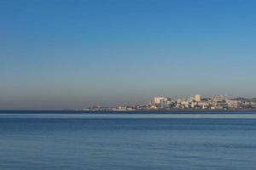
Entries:
POLYGON ((255 168, 255 112, 0 113, 1 170, 255 168))

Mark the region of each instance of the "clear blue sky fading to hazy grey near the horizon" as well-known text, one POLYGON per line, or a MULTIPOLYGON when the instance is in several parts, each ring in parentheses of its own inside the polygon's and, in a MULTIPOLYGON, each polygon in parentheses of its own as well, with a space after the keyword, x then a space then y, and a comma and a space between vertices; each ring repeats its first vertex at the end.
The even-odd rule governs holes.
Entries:
POLYGON ((0 110, 256 97, 256 0, 2 0, 0 110))

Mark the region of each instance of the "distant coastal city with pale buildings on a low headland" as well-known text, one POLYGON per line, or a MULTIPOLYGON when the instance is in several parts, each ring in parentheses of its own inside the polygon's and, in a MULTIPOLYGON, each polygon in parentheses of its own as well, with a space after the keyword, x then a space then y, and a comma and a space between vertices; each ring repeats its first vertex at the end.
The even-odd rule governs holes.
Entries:
POLYGON ((225 95, 201 97, 197 94, 185 99, 172 99, 156 96, 145 105, 120 105, 106 108, 100 105, 92 106, 83 111, 172 111, 172 110, 256 110, 256 98, 228 99, 225 95))

